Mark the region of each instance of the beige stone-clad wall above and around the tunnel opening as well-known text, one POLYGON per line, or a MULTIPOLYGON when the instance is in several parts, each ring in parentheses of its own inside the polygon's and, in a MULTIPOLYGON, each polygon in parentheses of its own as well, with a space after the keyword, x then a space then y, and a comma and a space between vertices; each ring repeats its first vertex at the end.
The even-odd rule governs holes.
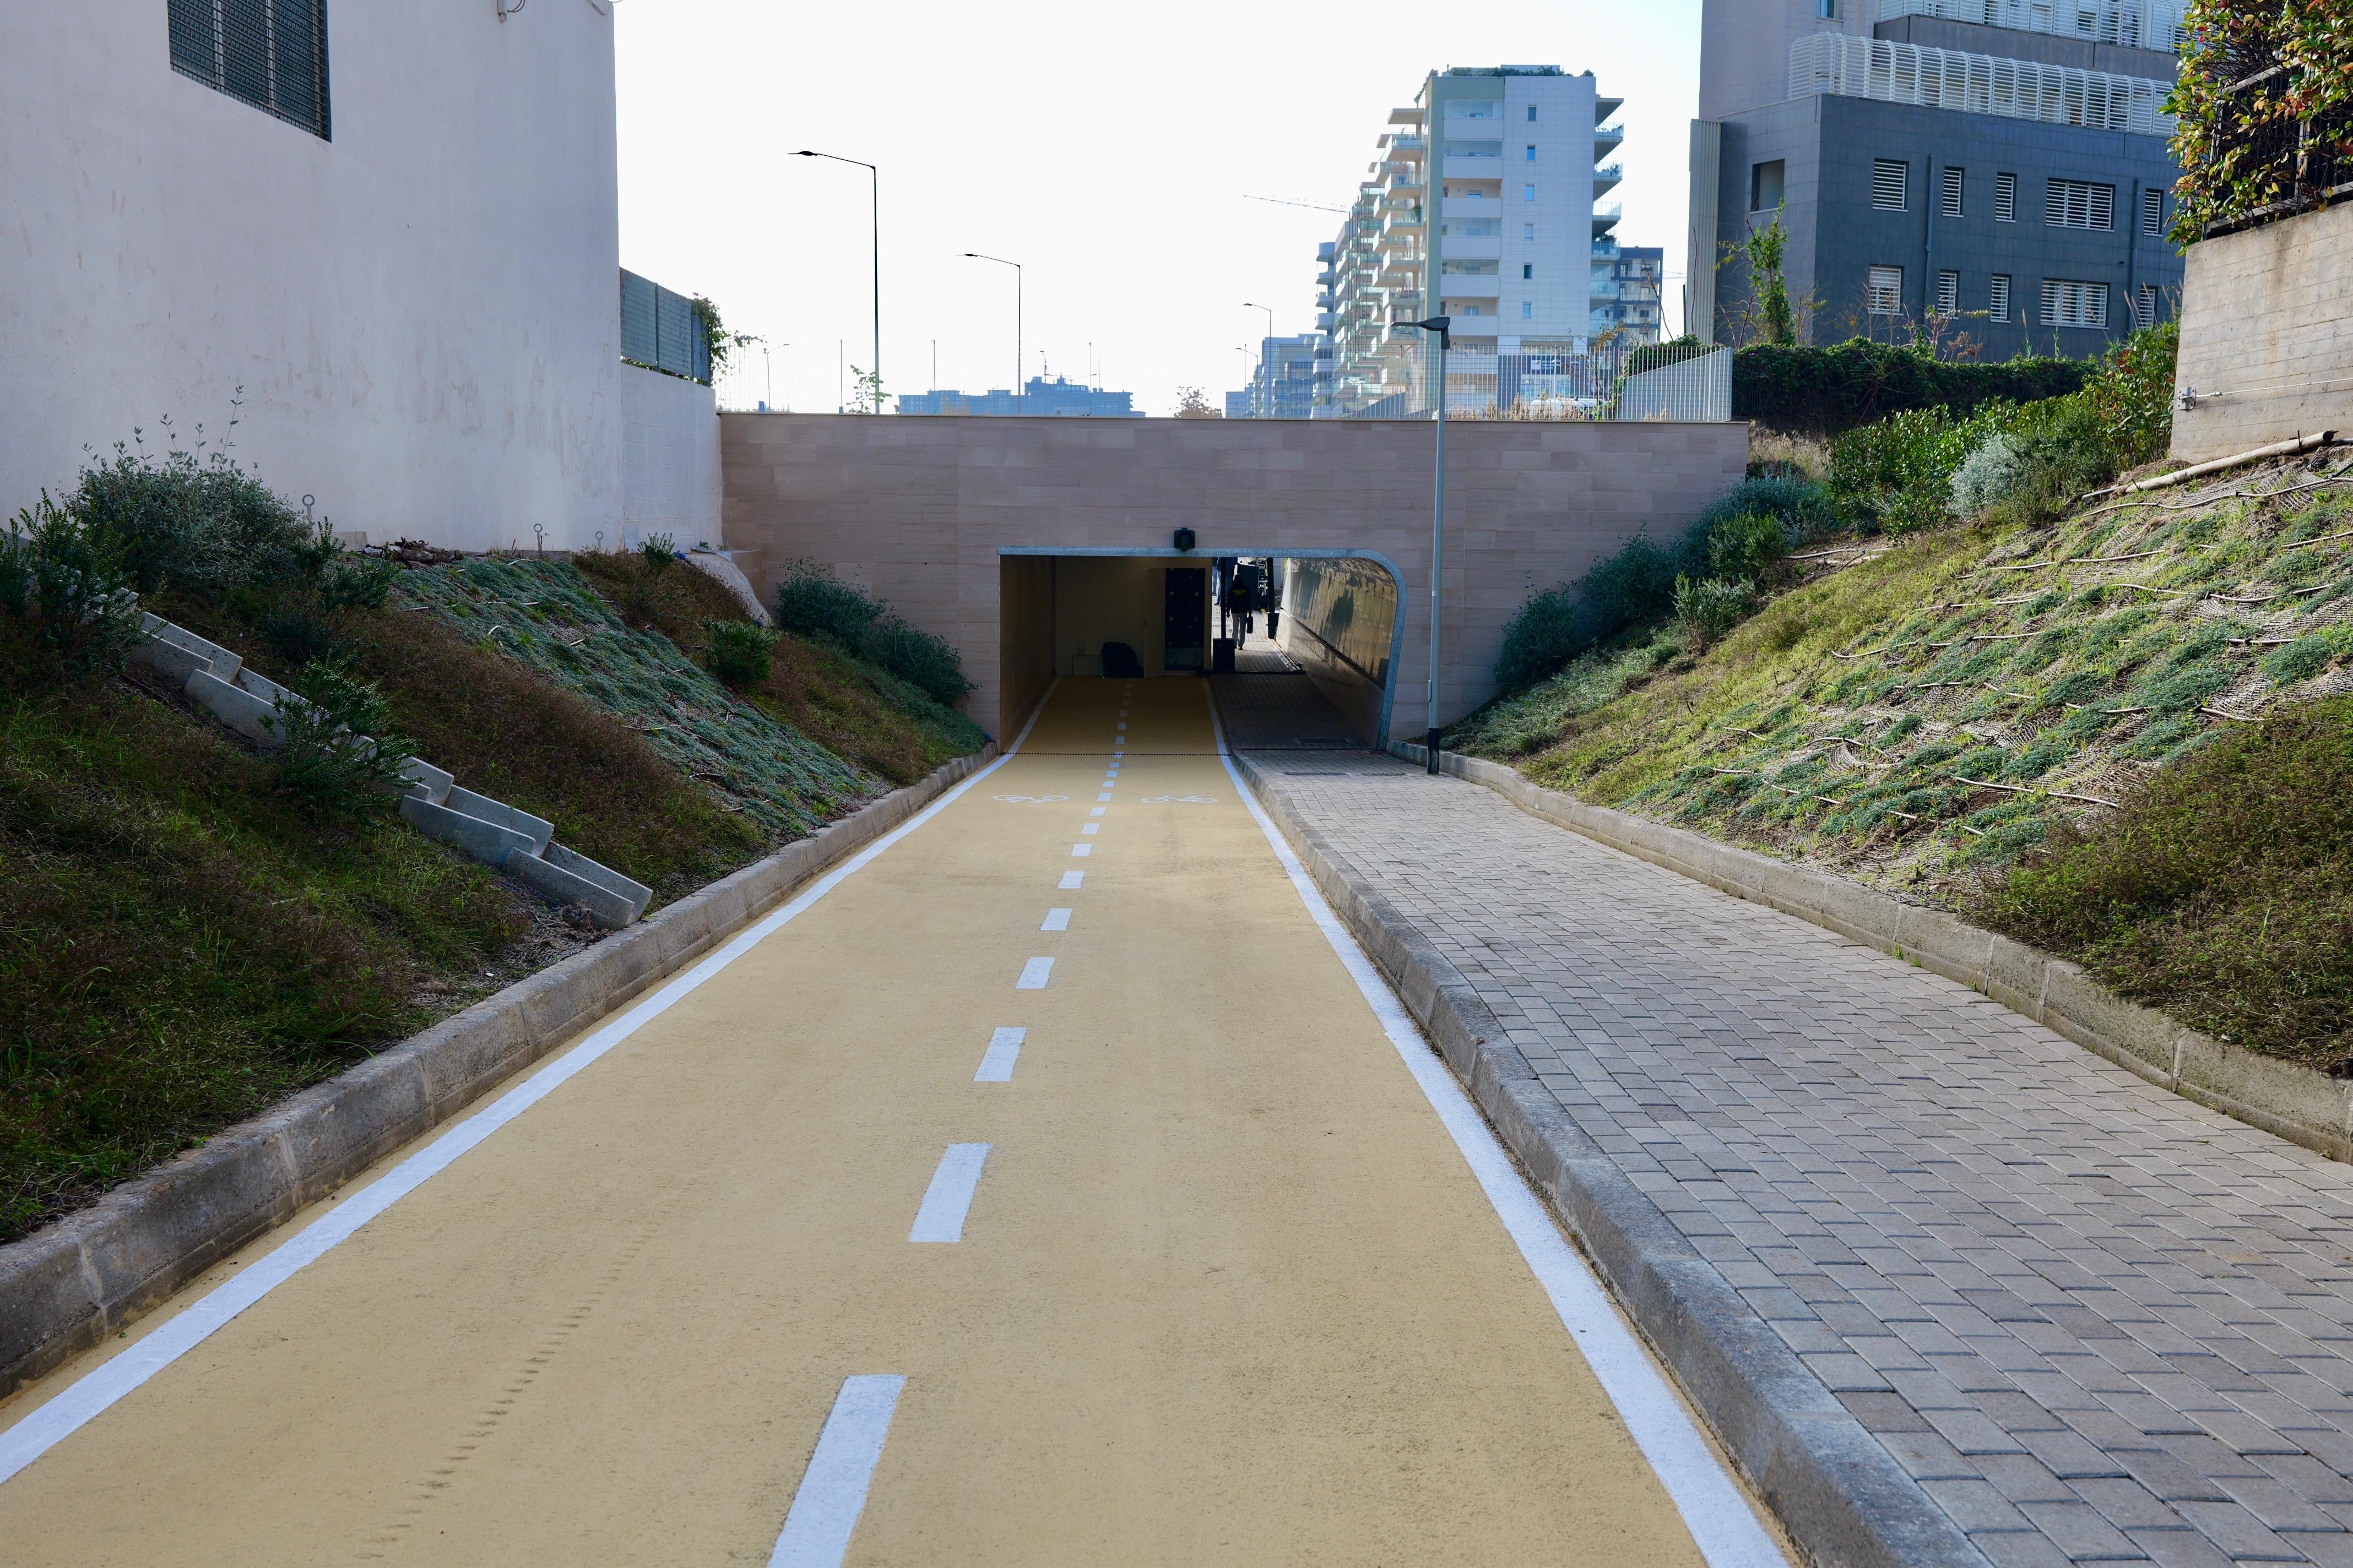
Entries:
MULTIPOLYGON (((1400 578, 1393 726, 1419 731, 1428 654, 1435 425, 1388 421, 875 418, 725 414, 727 545, 755 550, 762 597, 816 559, 955 642, 967 701, 1009 733, 1071 649, 1035 616, 1035 552, 1362 552, 1400 578), (1049 670, 1035 663, 1054 661, 1049 670), (1021 668, 1009 670, 1007 658, 1021 668)), ((1579 576, 1631 534, 1680 531, 1739 484, 1748 425, 1461 421, 1447 428, 1440 710, 1494 693, 1504 623, 1532 588, 1579 576)), ((746 555, 744 559, 753 559, 746 555)), ((1049 592, 1049 590, 1047 590, 1049 592)), ((1092 675, 1092 668, 1082 672, 1092 675)))

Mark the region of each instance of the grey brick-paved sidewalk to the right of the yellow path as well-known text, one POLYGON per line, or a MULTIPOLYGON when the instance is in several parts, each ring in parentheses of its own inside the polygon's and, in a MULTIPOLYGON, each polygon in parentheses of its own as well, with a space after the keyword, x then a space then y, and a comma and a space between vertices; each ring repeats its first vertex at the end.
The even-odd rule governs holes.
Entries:
POLYGON ((1993 1563, 2353 1566, 2353 1168, 1480 785, 1259 764, 1993 1563))

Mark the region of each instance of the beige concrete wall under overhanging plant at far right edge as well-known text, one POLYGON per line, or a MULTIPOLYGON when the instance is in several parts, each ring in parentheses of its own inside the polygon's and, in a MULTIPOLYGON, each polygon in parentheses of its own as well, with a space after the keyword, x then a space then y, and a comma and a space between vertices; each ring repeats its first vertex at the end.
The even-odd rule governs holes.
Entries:
POLYGON ((2353 205, 2193 244, 2174 456, 2353 433, 2353 205))

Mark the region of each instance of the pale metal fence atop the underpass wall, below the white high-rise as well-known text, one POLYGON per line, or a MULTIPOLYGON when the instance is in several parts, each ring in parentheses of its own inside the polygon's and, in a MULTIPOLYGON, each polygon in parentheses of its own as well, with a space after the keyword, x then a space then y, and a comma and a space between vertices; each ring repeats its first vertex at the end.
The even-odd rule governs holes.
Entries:
MULTIPOLYGON (((1414 334, 1419 339, 1421 334, 1414 334)), ((1732 418, 1732 350, 1713 343, 1602 343, 1584 350, 1447 353, 1447 418, 1685 421, 1732 418)), ((1341 362, 1318 418, 1431 418, 1438 348, 1391 336, 1341 362)))

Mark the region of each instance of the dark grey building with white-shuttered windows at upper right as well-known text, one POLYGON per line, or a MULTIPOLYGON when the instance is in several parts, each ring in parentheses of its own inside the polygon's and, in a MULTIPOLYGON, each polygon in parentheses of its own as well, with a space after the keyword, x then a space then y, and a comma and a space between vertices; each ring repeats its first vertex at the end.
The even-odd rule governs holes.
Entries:
POLYGON ((1689 331, 1755 334, 1774 216, 1817 343, 2092 355, 2169 315, 2179 33, 2181 0, 1704 0, 1689 331))

